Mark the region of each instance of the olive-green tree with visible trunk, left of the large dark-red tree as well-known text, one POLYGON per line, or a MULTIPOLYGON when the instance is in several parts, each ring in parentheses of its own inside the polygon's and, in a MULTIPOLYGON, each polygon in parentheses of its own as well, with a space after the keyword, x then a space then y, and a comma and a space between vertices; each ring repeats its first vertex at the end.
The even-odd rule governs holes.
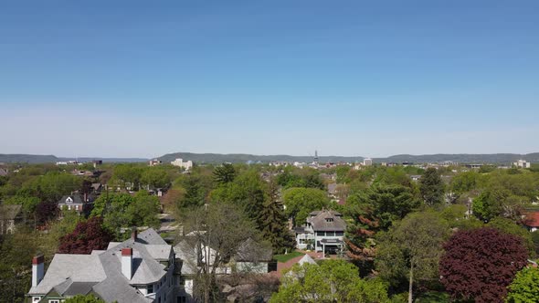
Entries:
POLYGON ((379 234, 376 269, 396 285, 406 277, 411 303, 415 283, 439 277, 439 258, 449 234, 449 225, 439 214, 408 214, 388 232, 379 234))

